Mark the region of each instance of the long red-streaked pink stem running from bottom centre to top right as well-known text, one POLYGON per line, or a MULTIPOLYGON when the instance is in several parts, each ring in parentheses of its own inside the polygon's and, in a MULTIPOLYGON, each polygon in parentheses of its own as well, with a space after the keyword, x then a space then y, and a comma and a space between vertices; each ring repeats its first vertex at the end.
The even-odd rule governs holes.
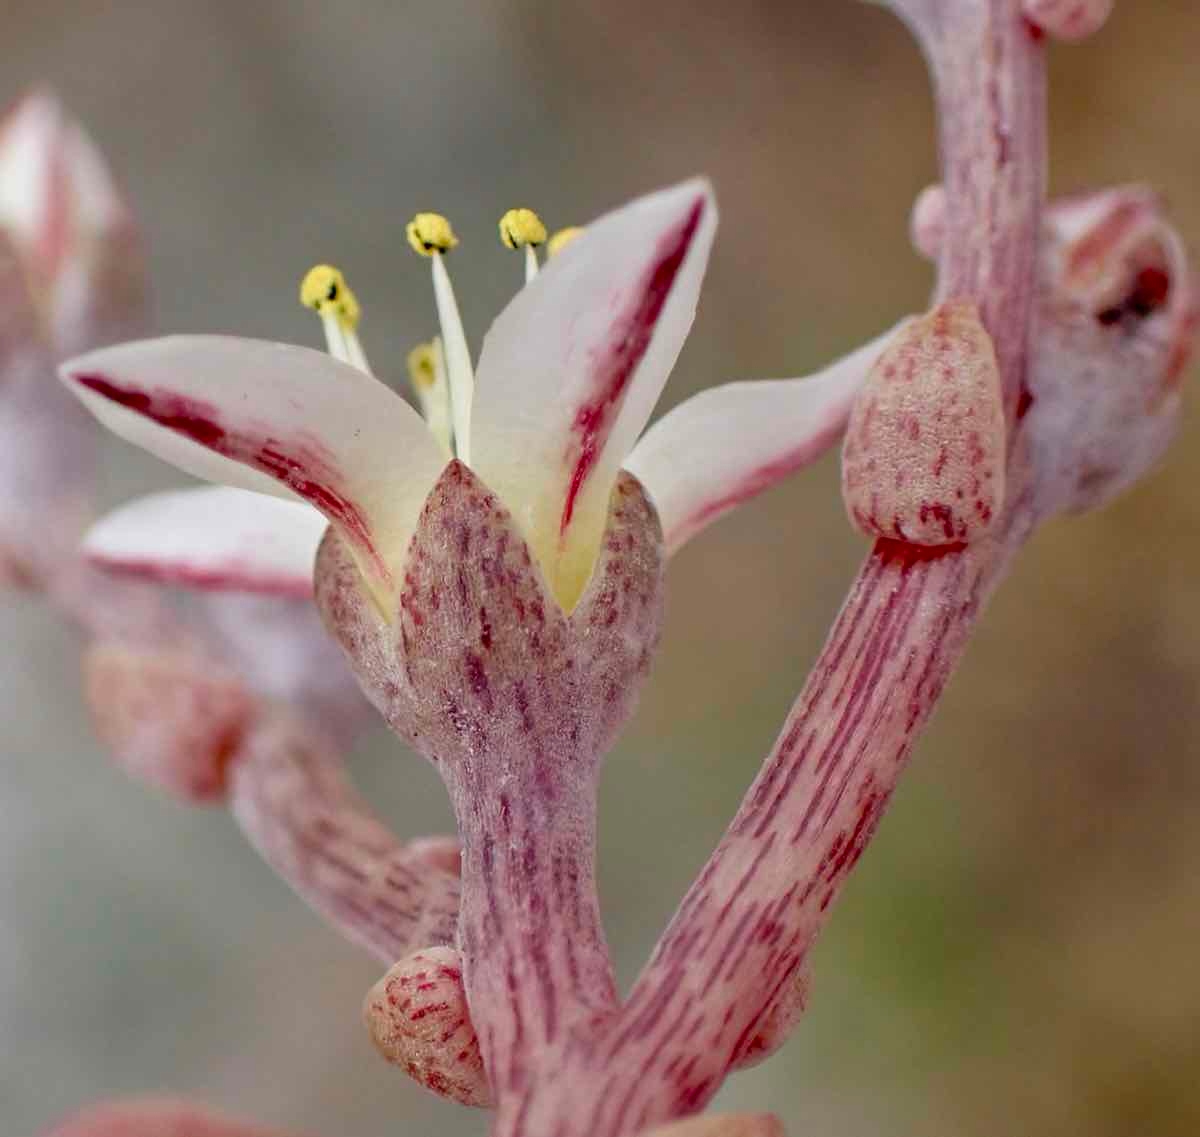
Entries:
MULTIPOLYGON (((1044 60, 1015 0, 896 0, 937 88, 950 207, 938 295, 973 300, 1010 421, 1024 385, 1044 180, 1044 60)), ((798 969, 890 799, 980 606, 1032 530, 1014 433, 997 535, 878 542, 728 832, 628 1004, 500 1097, 496 1137, 622 1137, 702 1108, 798 969), (569 1089, 566 1089, 569 1087, 569 1089)))

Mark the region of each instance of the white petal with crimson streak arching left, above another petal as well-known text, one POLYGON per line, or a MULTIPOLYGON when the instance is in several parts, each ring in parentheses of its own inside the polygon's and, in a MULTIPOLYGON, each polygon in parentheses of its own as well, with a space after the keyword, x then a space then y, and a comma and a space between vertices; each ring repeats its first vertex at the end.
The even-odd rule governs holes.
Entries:
POLYGON ((316 506, 391 597, 445 461, 382 383, 320 351, 223 336, 106 348, 61 373, 101 422, 180 469, 316 506))

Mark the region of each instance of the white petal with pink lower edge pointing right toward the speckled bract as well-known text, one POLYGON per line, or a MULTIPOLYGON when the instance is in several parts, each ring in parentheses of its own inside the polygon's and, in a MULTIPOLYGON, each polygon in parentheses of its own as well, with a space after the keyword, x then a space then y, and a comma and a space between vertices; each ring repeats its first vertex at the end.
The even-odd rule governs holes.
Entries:
POLYGON ((625 468, 658 507, 667 549, 824 453, 899 326, 808 378, 713 387, 654 423, 625 468))

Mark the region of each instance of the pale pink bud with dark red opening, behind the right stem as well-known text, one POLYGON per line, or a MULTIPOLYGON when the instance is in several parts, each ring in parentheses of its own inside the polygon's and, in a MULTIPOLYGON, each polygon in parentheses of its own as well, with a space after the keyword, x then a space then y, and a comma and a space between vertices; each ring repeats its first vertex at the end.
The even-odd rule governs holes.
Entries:
POLYGON ((1025 427, 1044 513, 1110 501, 1157 465, 1180 419, 1196 287, 1140 186, 1046 211, 1025 427))

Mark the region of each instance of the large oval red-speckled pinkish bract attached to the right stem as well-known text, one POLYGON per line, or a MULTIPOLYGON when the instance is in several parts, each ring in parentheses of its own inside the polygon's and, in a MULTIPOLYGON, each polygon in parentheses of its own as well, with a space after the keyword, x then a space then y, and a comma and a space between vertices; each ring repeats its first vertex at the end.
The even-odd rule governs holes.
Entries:
POLYGON ((991 337, 970 301, 902 329, 866 377, 842 450, 842 497, 871 537, 970 542, 1004 498, 1004 409, 991 337))

